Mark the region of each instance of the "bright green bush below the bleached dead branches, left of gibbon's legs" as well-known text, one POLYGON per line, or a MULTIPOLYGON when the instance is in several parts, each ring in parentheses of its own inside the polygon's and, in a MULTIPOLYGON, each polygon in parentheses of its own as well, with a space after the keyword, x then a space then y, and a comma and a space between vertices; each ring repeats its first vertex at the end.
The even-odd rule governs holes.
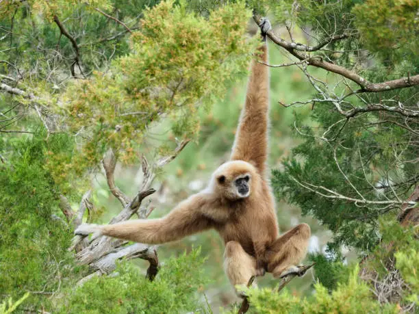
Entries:
POLYGON ((198 292, 207 282, 200 250, 164 262, 153 282, 138 267, 120 263, 116 273, 89 280, 74 291, 58 313, 186 313, 202 309, 198 292))

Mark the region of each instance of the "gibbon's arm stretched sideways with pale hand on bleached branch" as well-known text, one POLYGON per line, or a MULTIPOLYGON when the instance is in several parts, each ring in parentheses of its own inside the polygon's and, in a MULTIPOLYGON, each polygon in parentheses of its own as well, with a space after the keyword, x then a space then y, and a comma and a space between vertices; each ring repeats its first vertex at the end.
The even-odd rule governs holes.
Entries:
POLYGON ((199 193, 180 202, 175 209, 159 219, 128 220, 118 224, 82 224, 75 230, 76 235, 93 237, 108 235, 145 244, 163 244, 204 231, 212 227, 212 221, 203 213, 211 210, 210 196, 199 193))

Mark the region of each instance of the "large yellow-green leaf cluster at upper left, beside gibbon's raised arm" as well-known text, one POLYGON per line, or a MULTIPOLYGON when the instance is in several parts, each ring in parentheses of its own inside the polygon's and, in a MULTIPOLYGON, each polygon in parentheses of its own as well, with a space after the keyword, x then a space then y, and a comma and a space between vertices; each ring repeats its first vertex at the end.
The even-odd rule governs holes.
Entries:
POLYGON ((209 18, 174 1, 146 10, 132 52, 66 94, 71 127, 94 139, 84 144, 88 162, 108 147, 132 161, 147 127, 162 117, 173 120, 178 138, 194 138, 198 107, 223 97, 226 84, 246 73, 255 47, 246 36, 250 17, 242 2, 209 18))

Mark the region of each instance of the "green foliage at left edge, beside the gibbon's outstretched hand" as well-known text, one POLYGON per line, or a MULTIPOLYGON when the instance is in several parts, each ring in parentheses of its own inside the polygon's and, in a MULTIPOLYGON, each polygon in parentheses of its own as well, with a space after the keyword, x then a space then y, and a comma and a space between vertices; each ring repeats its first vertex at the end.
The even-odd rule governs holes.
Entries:
MULTIPOLYGON (((0 291, 20 296, 21 291, 52 293, 61 278, 77 274, 73 255, 67 252, 72 237, 58 209, 58 185, 46 166, 49 150, 64 143, 58 135, 1 142, 0 153, 11 153, 0 171, 0 291), (5 144, 4 144, 5 143, 5 144)), ((42 300, 34 293, 30 302, 42 300)))

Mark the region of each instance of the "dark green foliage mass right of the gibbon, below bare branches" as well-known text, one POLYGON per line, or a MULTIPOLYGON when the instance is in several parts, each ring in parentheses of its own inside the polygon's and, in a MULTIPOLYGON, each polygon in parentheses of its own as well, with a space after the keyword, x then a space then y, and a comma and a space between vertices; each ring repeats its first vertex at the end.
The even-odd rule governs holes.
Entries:
MULTIPOLYGON (((292 157, 284 161, 284 171, 272 172, 275 192, 280 198, 285 197, 299 205, 304 214, 314 215, 326 224, 334 233, 335 241, 331 248, 345 244, 368 250, 379 239, 377 219, 392 208, 355 204, 345 198, 326 198, 324 195, 329 193, 325 189, 338 191, 353 199, 361 198, 359 191, 371 200, 392 198, 394 194, 388 187, 388 181, 396 185, 395 190, 406 188, 403 183, 417 171, 418 166, 406 162, 401 167, 401 163, 414 158, 418 153, 417 148, 407 144, 400 155, 394 155, 397 142, 409 137, 409 132, 399 127, 383 132, 380 125, 366 129, 366 124, 376 121, 375 116, 346 122, 344 131, 333 129, 329 134, 332 139, 338 137, 339 142, 325 142, 316 136, 320 136, 333 123, 340 120, 340 123, 345 123, 345 119, 342 120, 340 114, 331 111, 327 104, 316 106, 312 118, 321 126, 318 133, 307 125, 302 126, 301 118, 296 116, 296 126, 304 142, 292 150, 292 157), (321 194, 303 185, 320 187, 321 194), (383 188, 371 189, 371 185, 383 188)), ((411 191, 409 187, 407 189, 411 191)), ((405 195, 408 196, 409 192, 405 192, 405 195)))

